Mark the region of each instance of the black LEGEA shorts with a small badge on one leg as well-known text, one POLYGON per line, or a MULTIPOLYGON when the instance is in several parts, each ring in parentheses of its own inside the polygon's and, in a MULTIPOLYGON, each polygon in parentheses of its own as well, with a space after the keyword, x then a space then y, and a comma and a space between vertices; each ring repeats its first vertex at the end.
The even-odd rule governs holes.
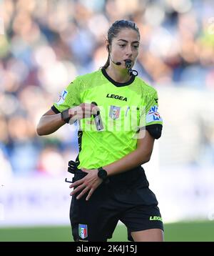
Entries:
MULTIPOLYGON (((73 182, 86 176, 74 174, 73 182)), ((128 240, 131 232, 159 228, 163 230, 161 213, 156 195, 148 188, 142 167, 109 178, 93 192, 90 200, 86 195, 71 200, 70 220, 74 241, 105 242, 111 238, 118 220, 126 225, 128 240)))

